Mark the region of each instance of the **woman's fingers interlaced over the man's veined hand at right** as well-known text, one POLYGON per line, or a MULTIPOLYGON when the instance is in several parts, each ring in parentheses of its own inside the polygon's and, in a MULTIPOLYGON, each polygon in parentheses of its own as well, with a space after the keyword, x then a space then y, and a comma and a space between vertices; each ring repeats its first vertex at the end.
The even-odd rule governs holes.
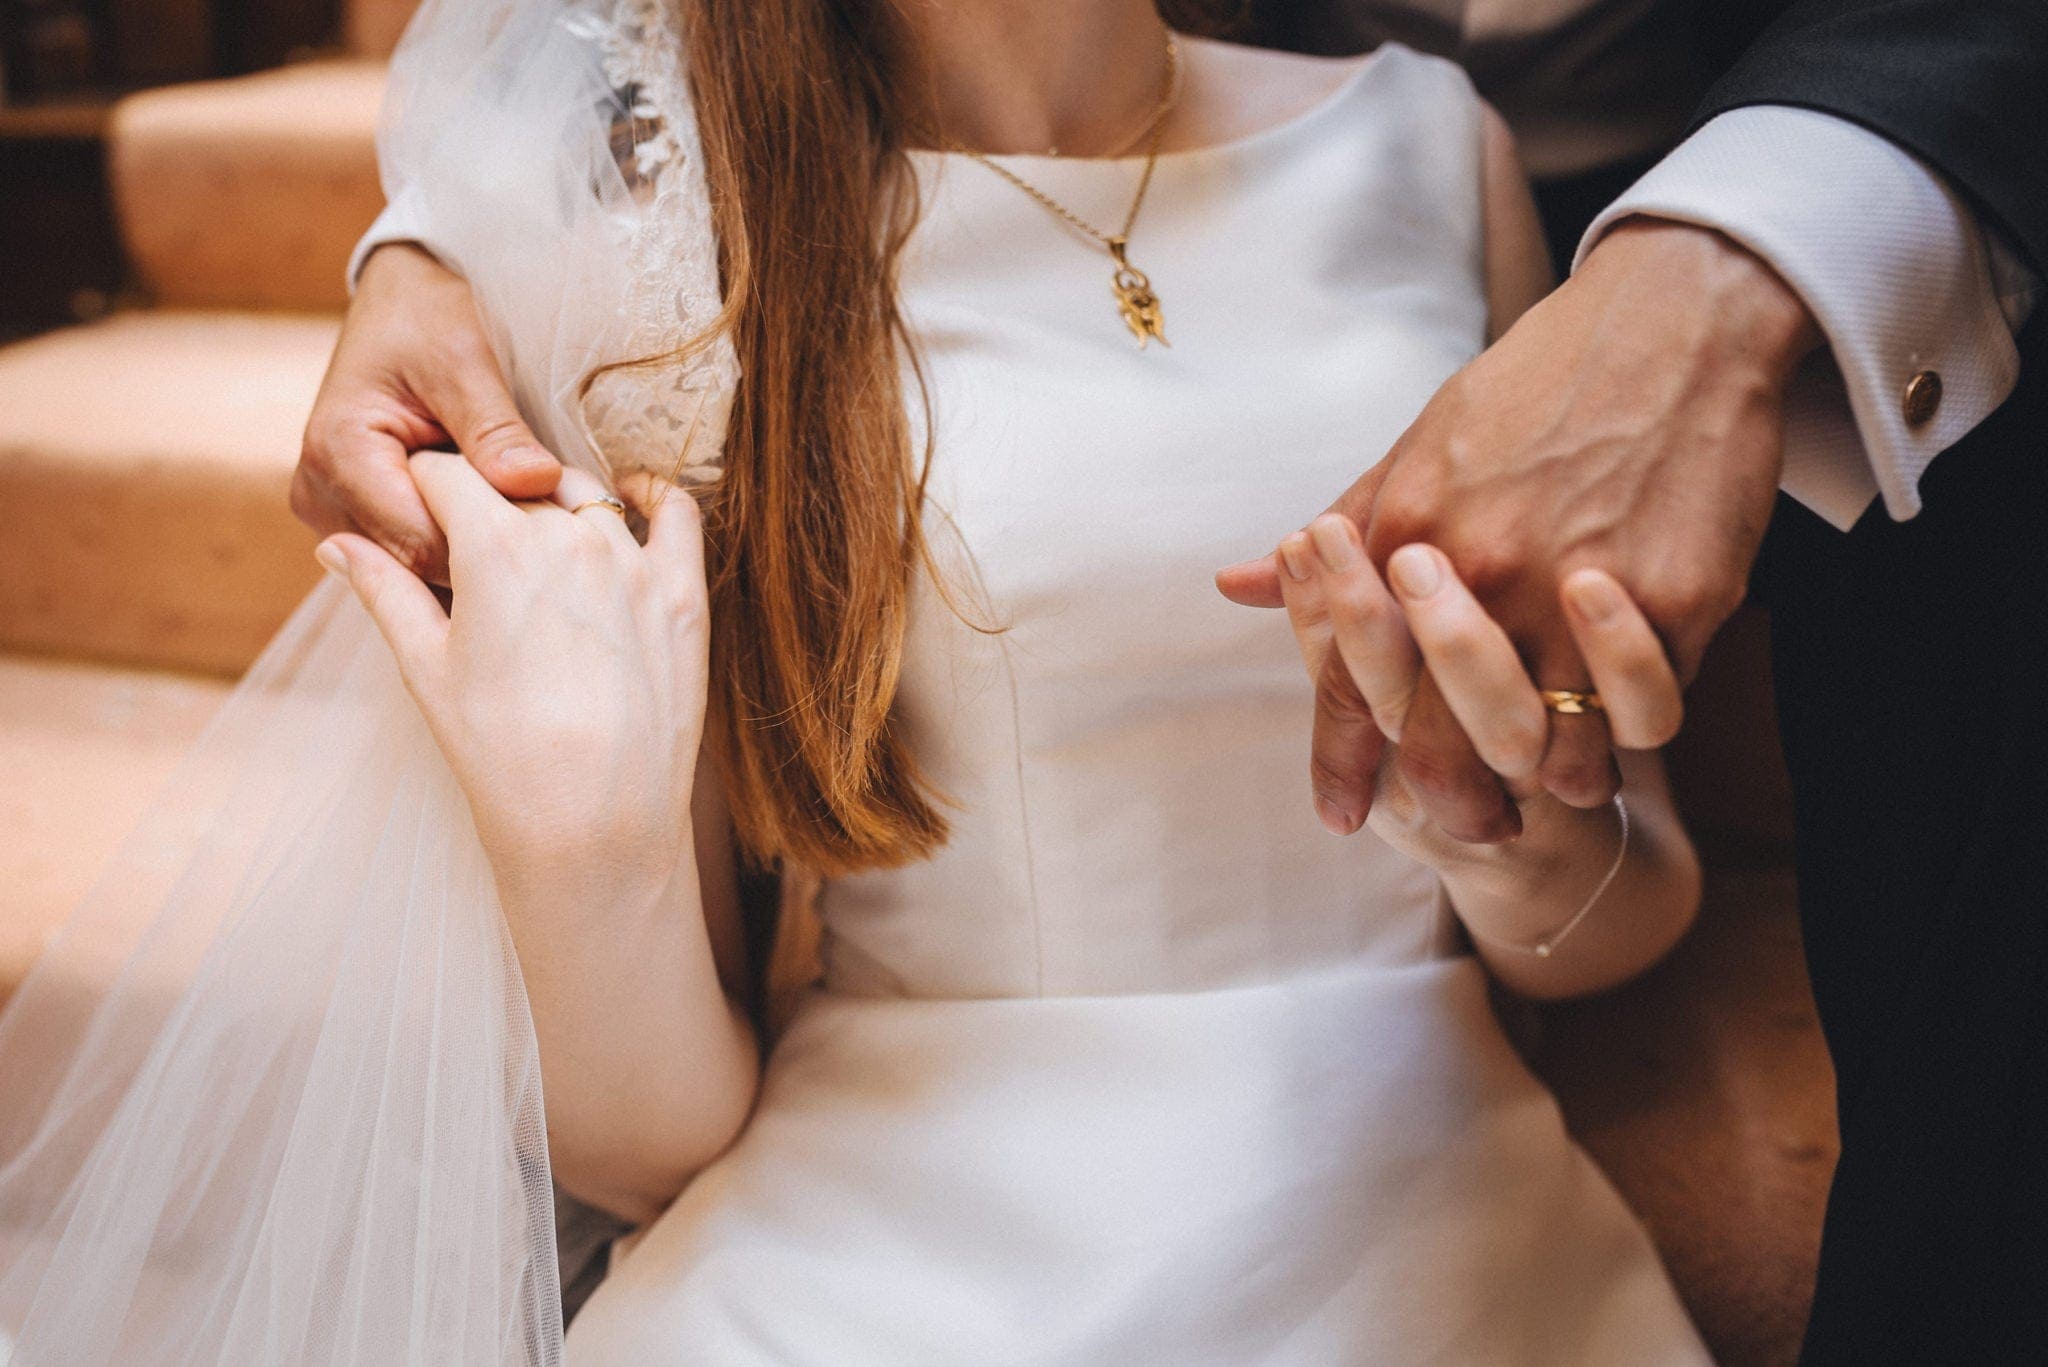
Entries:
MULTIPOLYGON (((1346 697, 1325 699, 1331 705, 1317 709, 1319 726, 1354 726, 1362 738, 1372 732, 1399 736, 1427 670, 1481 758, 1522 807, 1524 836, 1538 826, 1583 824, 1583 814, 1550 797, 1538 779, 1550 730, 1542 695, 1513 641, 1487 617, 1448 557, 1427 545, 1403 547, 1389 564, 1395 580, 1389 586, 1366 557, 1352 521, 1325 514, 1280 543, 1280 564, 1288 621, 1309 676, 1321 689, 1346 689, 1346 697), (1329 668, 1333 656, 1343 668, 1329 668)), ((1597 570, 1569 576, 1563 598, 1616 740, 1634 748, 1663 744, 1677 730, 1683 697, 1640 609, 1597 570)), ((1485 846, 1436 828, 1393 762, 1391 746, 1378 756, 1370 812, 1337 807, 1333 793, 1348 785, 1331 779, 1311 775, 1317 814, 1331 830, 1350 834, 1370 820, 1389 844, 1438 869, 1491 859, 1485 846)))

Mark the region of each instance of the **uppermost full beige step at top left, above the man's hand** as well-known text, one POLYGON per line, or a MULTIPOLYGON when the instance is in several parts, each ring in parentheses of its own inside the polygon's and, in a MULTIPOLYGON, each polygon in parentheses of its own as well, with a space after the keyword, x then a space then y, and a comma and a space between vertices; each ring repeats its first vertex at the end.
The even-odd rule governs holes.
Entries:
POLYGON ((109 176, 139 283, 174 307, 338 309, 383 207, 377 59, 166 86, 121 100, 109 176))

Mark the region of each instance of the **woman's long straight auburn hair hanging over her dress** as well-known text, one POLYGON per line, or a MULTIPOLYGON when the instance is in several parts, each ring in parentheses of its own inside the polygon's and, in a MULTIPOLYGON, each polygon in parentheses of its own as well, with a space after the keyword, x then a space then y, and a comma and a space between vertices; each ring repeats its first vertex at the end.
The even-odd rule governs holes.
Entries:
MULTIPOLYGON (((891 2, 680 0, 741 369, 705 496, 707 732, 743 853, 825 875, 946 838, 893 715, 928 562, 897 262, 918 215, 907 135, 930 107, 891 57, 891 2)), ((1159 8, 1223 33, 1241 6, 1159 8)))

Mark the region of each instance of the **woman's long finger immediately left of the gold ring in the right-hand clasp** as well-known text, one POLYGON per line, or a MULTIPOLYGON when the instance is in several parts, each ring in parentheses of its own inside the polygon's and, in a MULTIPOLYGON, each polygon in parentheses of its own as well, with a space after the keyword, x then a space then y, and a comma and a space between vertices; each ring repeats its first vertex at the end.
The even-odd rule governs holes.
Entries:
POLYGON ((1386 578, 1430 676, 1479 758, 1509 783, 1526 781, 1542 764, 1550 713, 1513 641, 1436 547, 1403 545, 1386 562, 1386 578))

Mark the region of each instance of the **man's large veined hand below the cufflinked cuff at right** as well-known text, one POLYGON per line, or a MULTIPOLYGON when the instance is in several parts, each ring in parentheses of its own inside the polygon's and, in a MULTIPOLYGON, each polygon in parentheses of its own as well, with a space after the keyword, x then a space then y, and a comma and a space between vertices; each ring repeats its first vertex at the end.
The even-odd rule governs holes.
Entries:
MULTIPOLYGON (((1415 541, 1446 551, 1542 689, 1591 687, 1559 594, 1583 566, 1620 580, 1690 680, 1743 598, 1778 490, 1784 385, 1819 340, 1759 258, 1708 230, 1632 219, 1454 375, 1333 508, 1382 568, 1415 541)), ((1270 557, 1217 582, 1237 603, 1280 605, 1270 557)), ((1550 721, 1542 750, 1511 767, 1569 803, 1608 801, 1620 779, 1606 721, 1550 721)), ((1403 779, 1444 830, 1518 832, 1499 777, 1427 676, 1399 740, 1403 779)), ((1333 758, 1315 756, 1315 771, 1356 771, 1333 758)), ((1370 791, 1346 797, 1362 820, 1370 791)))

